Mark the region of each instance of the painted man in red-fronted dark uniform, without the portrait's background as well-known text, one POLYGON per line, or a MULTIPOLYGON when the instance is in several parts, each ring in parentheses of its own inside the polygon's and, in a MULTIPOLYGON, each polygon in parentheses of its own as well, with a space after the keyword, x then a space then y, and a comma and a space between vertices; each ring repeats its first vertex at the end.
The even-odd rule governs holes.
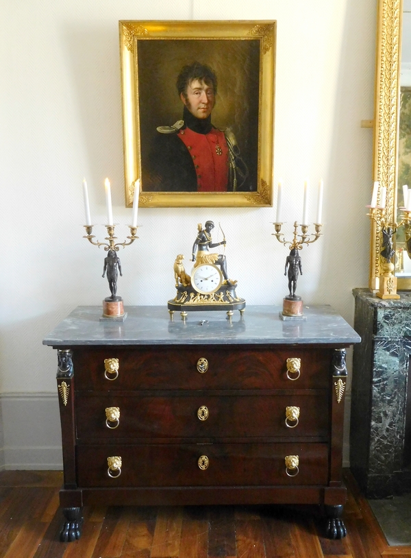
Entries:
POLYGON ((177 77, 182 119, 156 128, 149 156, 151 184, 162 191, 249 191, 249 170, 231 128, 212 123, 217 77, 206 64, 192 62, 177 77))

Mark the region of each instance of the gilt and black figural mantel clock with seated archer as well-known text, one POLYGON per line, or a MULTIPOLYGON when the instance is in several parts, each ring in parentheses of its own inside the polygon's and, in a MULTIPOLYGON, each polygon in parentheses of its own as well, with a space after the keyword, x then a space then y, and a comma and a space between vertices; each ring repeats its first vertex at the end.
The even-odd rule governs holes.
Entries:
POLYGON ((225 310, 231 319, 234 310, 239 310, 241 314, 244 312, 245 300, 236 294, 237 281, 229 279, 227 275, 225 254, 210 252, 210 248, 220 245, 224 246, 225 252, 225 238, 221 242, 212 242, 213 228, 212 221, 207 221, 204 228, 201 224, 198 226, 197 238, 192 246, 191 261, 194 266, 190 275, 184 269, 184 254, 178 254, 175 258, 177 293, 168 303, 171 315, 179 310, 182 319, 186 319, 188 311, 225 310))

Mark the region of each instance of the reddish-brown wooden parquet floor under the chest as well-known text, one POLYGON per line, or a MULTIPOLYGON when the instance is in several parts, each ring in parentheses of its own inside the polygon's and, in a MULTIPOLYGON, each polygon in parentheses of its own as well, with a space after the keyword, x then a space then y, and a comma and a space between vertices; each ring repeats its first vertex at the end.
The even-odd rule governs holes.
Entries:
POLYGON ((349 472, 340 541, 316 507, 85 507, 81 539, 58 539, 61 472, 0 472, 0 558, 404 558, 349 472))

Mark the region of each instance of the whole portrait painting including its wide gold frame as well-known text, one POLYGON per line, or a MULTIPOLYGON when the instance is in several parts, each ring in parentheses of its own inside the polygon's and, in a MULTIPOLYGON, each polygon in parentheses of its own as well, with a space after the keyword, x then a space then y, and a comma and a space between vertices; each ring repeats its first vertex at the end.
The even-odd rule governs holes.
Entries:
POLYGON ((143 207, 271 206, 276 22, 120 21, 119 32, 126 206, 136 184, 143 207), (209 100, 197 110, 194 95, 209 100))

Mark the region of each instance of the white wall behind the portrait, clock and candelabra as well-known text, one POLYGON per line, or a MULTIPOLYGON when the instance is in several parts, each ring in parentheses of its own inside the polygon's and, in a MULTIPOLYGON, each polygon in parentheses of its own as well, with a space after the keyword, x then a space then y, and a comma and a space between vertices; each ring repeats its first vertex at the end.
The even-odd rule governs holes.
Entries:
MULTIPOLYGON (((34 433, 32 424, 47 420, 55 422, 47 436, 58 439, 54 404, 49 417, 39 411, 30 421, 18 420, 18 402, 23 408, 25 398, 40 394, 44 409, 45 393, 55 393, 56 359, 42 346, 43 336, 77 304, 101 304, 109 294, 101 278, 104 254, 82 239, 82 178, 99 237, 105 176, 112 182, 114 220, 130 220, 119 19, 277 20, 275 182, 284 179, 289 231, 301 219, 304 178, 325 182, 324 236, 301 252, 298 291, 306 304, 332 304, 352 324, 351 289, 366 286, 369 271, 364 206, 372 130, 360 128, 360 121, 373 117, 375 0, 3 0, 2 12, 0 393, 13 401, 3 404, 5 444, 18 439, 21 448, 46 447, 49 438, 39 439, 42 429, 34 433)), ((315 203, 313 196, 310 219, 315 203)), ((121 254, 119 294, 126 305, 165 308, 174 293, 175 254, 189 254, 197 223, 214 219, 227 236, 238 293, 247 304, 281 304, 287 250, 271 236, 274 217, 273 208, 142 208, 140 240, 121 254)), ((119 236, 127 231, 119 227, 119 236)), ((5 454, 6 467, 25 466, 23 457, 16 463, 5 454)))

